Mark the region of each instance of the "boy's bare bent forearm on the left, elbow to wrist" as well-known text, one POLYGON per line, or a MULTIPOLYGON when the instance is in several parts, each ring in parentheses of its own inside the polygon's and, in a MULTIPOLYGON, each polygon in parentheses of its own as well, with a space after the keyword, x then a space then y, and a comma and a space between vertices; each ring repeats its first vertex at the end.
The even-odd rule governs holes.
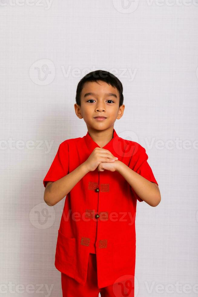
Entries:
POLYGON ((87 172, 87 166, 82 163, 61 179, 55 182, 48 182, 44 192, 45 203, 49 206, 54 206, 74 188, 87 172))

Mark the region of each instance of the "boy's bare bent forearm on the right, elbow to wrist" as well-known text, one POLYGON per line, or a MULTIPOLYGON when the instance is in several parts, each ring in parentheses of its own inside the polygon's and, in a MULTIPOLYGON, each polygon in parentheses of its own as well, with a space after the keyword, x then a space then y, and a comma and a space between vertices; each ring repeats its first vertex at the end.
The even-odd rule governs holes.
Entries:
POLYGON ((126 179, 142 200, 150 206, 157 206, 160 203, 161 195, 156 183, 145 179, 121 161, 116 161, 116 165, 116 171, 126 179))

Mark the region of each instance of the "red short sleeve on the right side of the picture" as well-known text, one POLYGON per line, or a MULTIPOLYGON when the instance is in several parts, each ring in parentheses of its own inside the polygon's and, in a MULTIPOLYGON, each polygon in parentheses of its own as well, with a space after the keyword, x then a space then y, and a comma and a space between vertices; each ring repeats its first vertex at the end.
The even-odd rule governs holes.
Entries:
MULTIPOLYGON (((146 150, 137 143, 138 149, 137 153, 132 155, 129 167, 130 169, 134 170, 141 176, 143 176, 145 179, 149 180, 150 182, 155 182, 157 185, 157 181, 153 175, 152 169, 150 168, 150 165, 148 164, 148 155, 146 153, 146 150)), ((139 200, 140 202, 144 201, 142 200, 134 191, 134 189, 131 187, 131 190, 134 193, 134 196, 139 200)))

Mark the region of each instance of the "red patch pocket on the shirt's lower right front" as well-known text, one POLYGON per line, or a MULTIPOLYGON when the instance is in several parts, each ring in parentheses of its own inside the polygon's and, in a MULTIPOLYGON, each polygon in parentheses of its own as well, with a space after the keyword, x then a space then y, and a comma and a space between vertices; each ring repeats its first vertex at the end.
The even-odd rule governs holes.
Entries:
POLYGON ((114 271, 133 271, 135 268, 136 239, 113 243, 114 271))

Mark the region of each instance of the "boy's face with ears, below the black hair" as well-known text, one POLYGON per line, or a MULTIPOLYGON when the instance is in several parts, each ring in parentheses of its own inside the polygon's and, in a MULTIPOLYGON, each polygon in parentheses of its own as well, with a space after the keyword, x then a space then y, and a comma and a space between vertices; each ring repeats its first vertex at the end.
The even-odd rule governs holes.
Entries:
POLYGON ((78 118, 83 118, 87 127, 105 130, 123 115, 124 105, 119 107, 119 101, 117 88, 103 81, 86 82, 81 91, 81 106, 75 103, 74 108, 78 118), (105 119, 98 120, 95 118, 97 116, 105 119))

